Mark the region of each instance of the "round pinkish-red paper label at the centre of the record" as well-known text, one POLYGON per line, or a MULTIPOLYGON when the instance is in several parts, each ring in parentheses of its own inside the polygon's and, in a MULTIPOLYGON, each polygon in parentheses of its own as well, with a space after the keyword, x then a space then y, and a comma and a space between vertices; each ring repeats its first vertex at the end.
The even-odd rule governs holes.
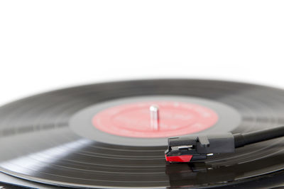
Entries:
MULTIPOLYGON (((122 137, 160 138, 200 132, 218 121, 214 110, 176 101, 147 101, 118 105, 92 118, 98 130, 122 137), (158 127, 151 125, 151 105, 158 106, 158 127)), ((153 122, 153 120, 152 120, 153 122)))

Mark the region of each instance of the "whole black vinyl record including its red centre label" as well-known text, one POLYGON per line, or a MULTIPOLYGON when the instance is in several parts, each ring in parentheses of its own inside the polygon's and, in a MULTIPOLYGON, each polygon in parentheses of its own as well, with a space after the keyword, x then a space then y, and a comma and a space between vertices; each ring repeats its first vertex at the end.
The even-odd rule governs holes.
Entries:
MULTIPOLYGON (((173 119, 181 125, 188 120, 173 119)), ((168 137, 280 125, 284 91, 267 86, 156 79, 65 88, 0 108, 0 171, 74 188, 272 188, 284 185, 283 138, 190 164, 168 164, 164 151, 168 137), (166 120, 170 127, 148 132, 137 117, 145 111, 135 109, 148 103, 160 103, 173 113, 187 108, 192 122, 180 127, 166 120)))

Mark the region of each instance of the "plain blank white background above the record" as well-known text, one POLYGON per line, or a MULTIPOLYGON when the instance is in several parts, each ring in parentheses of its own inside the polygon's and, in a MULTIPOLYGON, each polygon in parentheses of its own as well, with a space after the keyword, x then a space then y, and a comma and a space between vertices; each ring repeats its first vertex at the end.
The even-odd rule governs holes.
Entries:
POLYGON ((0 104, 100 81, 284 88, 284 1, 0 1, 0 104))

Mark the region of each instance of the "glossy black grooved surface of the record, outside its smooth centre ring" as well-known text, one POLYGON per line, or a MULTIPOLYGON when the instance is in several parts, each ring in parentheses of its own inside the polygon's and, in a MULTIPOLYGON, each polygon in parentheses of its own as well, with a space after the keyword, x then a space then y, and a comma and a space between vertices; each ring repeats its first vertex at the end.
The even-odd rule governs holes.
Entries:
POLYGON ((0 108, 0 170, 40 183, 82 188, 198 188, 267 180, 273 173, 281 177, 282 138, 212 156, 204 163, 165 164, 166 147, 96 142, 69 127, 72 115, 89 105, 149 95, 193 96, 229 105, 241 115, 233 133, 284 124, 284 91, 266 86, 160 79, 66 88, 0 108))

